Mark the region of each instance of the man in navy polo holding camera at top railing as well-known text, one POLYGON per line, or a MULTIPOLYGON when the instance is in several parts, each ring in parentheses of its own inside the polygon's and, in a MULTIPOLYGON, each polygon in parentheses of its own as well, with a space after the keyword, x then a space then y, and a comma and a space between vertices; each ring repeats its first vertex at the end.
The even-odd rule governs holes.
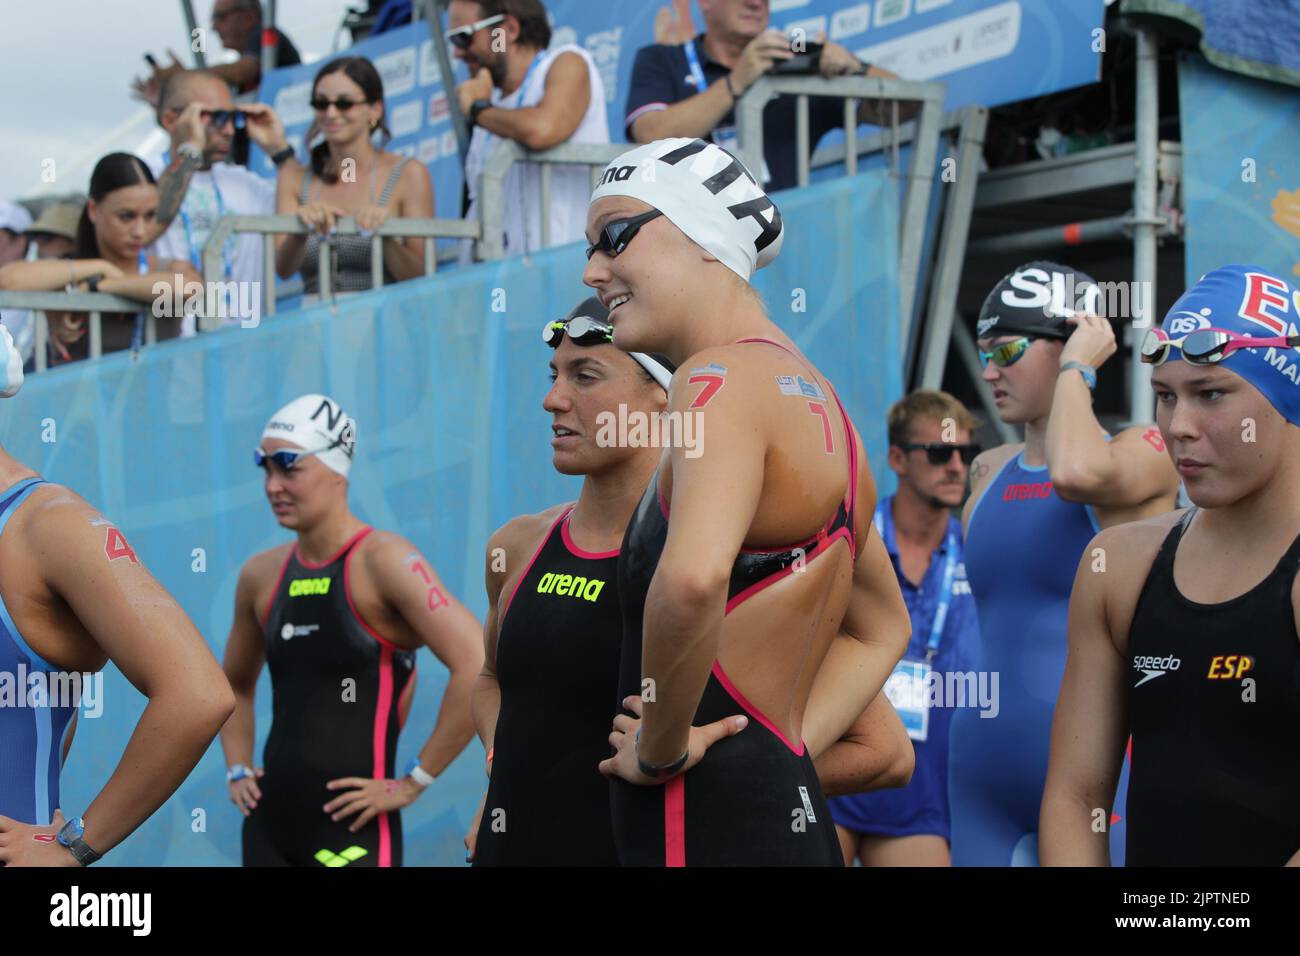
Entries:
MULTIPOLYGON (((656 43, 637 51, 628 90, 627 134, 634 143, 670 137, 711 138, 736 152, 736 101, 767 73, 894 78, 858 60, 838 43, 768 30, 768 0, 699 0, 705 33, 681 46, 656 43)), ((876 104, 862 103, 859 122, 872 121, 876 104)), ((777 96, 763 109, 763 186, 797 182, 794 96, 777 96)), ((900 118, 906 118, 900 116, 900 118)), ((833 96, 809 100, 809 143, 844 125, 844 103, 833 96)), ((759 170, 753 170, 755 176, 759 170)))

